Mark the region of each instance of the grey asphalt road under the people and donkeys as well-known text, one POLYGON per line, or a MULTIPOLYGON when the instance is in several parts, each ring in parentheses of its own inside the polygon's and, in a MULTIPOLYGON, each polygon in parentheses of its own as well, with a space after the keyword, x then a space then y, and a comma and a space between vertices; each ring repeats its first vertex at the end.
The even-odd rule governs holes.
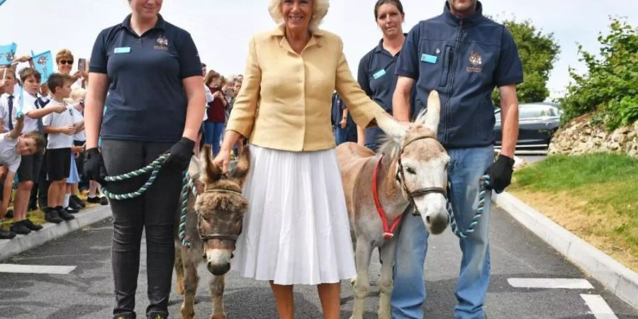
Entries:
MULTIPOLYGON (((638 310, 620 301, 600 284, 585 276, 539 238, 532 235, 506 213, 496 209, 491 220, 493 275, 486 312, 493 318, 595 318, 581 293, 598 294, 617 318, 638 318, 638 310), (587 279, 594 289, 514 288, 510 278, 587 279)), ((19 254, 3 263, 77 266, 69 274, 0 273, 0 318, 111 318, 113 284, 111 279, 111 220, 71 233, 42 247, 19 254)), ((143 236, 142 236, 143 238, 143 236)), ((142 242, 142 247, 144 243, 142 242)), ((371 266, 371 296, 365 318, 376 318, 379 263, 371 266)), ((427 318, 452 318, 454 285, 460 252, 457 238, 448 230, 431 237, 427 256, 427 318)), ((137 310, 147 306, 145 290, 145 249, 138 281, 137 310)), ((225 306, 228 318, 276 318, 274 301, 265 282, 228 275, 225 306)), ((196 317, 208 318, 211 311, 207 281, 210 275, 200 269, 196 317)), ((321 318, 320 303, 313 286, 295 288, 296 318, 321 318)), ((173 289, 174 290, 174 289, 173 289)), ((177 318, 181 296, 173 293, 170 312, 177 318)), ((342 318, 352 310, 352 291, 342 283, 342 318)), ((609 317, 613 318, 613 317, 609 317)))

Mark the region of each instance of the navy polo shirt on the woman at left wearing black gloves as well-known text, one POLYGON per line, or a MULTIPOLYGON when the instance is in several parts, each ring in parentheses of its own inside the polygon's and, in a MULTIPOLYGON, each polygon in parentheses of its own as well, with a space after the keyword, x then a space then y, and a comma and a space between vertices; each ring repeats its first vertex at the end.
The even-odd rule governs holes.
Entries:
POLYGON ((155 27, 138 36, 130 15, 101 31, 89 72, 108 75, 101 138, 177 142, 186 123, 182 80, 201 76, 191 35, 158 16, 155 27))

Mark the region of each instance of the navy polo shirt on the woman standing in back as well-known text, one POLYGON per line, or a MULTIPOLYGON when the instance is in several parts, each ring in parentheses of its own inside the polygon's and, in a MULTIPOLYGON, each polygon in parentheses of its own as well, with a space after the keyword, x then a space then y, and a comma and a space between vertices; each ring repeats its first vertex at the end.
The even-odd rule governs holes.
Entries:
MULTIPOLYGON (((396 89, 396 62, 401 52, 392 56, 388 50, 384 49, 384 40, 379 41, 379 45, 366 53, 359 61, 359 72, 357 82, 359 86, 368 94, 372 101, 384 108, 386 112, 392 114, 392 96, 396 89)), ((384 132, 379 127, 366 129, 366 146, 373 150, 379 147, 380 139, 384 132)))

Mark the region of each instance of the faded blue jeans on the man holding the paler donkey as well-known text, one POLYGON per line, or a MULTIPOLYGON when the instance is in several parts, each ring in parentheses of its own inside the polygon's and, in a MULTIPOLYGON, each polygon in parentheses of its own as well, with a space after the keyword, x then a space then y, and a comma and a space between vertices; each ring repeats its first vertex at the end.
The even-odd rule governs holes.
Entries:
MULTIPOLYGON (((451 184, 449 201, 454 218, 465 230, 478 204, 478 179, 494 161, 494 148, 474 147, 447 150, 451 184)), ((490 283, 489 219, 491 193, 486 194, 485 212, 474 233, 459 240, 463 257, 455 295, 454 317, 482 319, 483 304, 490 283)), ((424 318, 425 281, 423 280, 427 237, 420 216, 407 213, 403 218, 394 264, 392 318, 424 318)))

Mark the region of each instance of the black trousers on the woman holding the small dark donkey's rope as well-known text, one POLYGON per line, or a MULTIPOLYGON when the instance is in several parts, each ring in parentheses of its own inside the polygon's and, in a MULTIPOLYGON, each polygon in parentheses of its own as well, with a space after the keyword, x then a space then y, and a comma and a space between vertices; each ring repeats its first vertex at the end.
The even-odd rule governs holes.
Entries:
MULTIPOLYGON (((169 150, 172 143, 103 140, 102 155, 109 175, 140 169, 169 150)), ((108 182, 114 194, 135 191, 149 174, 126 181, 108 182)), ((116 307, 113 314, 133 313, 140 269, 140 241, 146 234, 147 283, 150 312, 168 314, 174 262, 174 223, 183 172, 162 169, 140 197, 111 201, 113 211, 113 281, 116 307)))

